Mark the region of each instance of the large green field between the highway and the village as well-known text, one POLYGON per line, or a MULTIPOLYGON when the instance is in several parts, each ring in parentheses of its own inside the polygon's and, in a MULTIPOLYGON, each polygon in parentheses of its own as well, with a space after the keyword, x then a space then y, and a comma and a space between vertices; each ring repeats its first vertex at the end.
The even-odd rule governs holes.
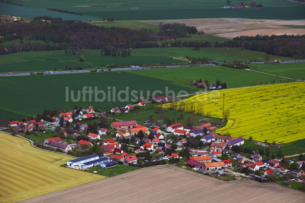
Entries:
MULTIPOLYGON (((202 89, 186 85, 195 79, 209 80, 215 83, 217 79, 226 82, 228 88, 249 86, 251 83, 268 82, 272 80, 279 81, 280 77, 257 73, 254 71, 230 69, 221 66, 204 66, 204 67, 184 67, 184 68, 162 68, 162 69, 144 69, 130 71, 110 71, 98 73, 72 73, 59 75, 34 75, 19 77, 0 77, 2 87, 0 97, 1 114, 0 119, 20 119, 21 115, 37 115, 42 113, 45 108, 70 109, 75 105, 93 106, 99 110, 109 110, 113 107, 123 107, 131 103, 133 95, 131 91, 143 91, 143 96, 151 95, 153 91, 160 90, 165 94, 165 87, 173 90, 176 94, 184 90, 189 94, 195 93, 202 89), (107 87, 111 87, 110 98, 103 102, 89 102, 88 94, 86 100, 72 102, 69 93, 69 101, 66 102, 66 87, 69 91, 81 91, 84 86, 97 87, 108 93, 107 87), (129 88, 128 98, 124 101, 113 100, 113 87, 116 87, 116 94, 120 90, 129 88), (147 93, 149 91, 149 93, 147 93), (110 100, 110 102, 108 102, 110 100), (22 104, 20 103, 22 101, 22 104)), ((77 98, 77 92, 74 93, 77 98)), ((160 93, 161 94, 161 93, 160 93)), ((159 95, 160 95, 159 94, 159 95)), ((158 94, 157 94, 158 95, 158 94)), ((98 95, 99 99, 103 98, 102 94, 98 95)), ((125 99, 125 95, 121 95, 125 99)), ((94 101, 94 94, 92 101, 94 101)))

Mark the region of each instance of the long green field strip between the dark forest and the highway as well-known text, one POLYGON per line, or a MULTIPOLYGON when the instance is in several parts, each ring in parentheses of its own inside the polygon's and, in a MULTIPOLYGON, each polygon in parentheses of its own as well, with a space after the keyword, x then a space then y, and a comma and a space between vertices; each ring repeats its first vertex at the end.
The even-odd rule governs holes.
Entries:
MULTIPOLYGON (((8 42, 5 42, 8 43, 8 42)), ((87 49, 85 53, 86 61, 80 62, 79 55, 65 55, 63 50, 56 51, 33 51, 20 52, 7 55, 0 55, 0 73, 7 72, 28 72, 28 71, 57 71, 63 67, 82 67, 83 69, 104 68, 107 64, 150 64, 156 63, 185 63, 185 61, 174 59, 175 57, 207 57, 211 60, 242 60, 264 59, 267 55, 264 52, 241 50, 240 48, 141 48, 132 49, 131 56, 105 56, 101 55, 99 49, 87 49), (18 60, 15 60, 18 59, 18 60)), ((290 60, 288 57, 269 55, 270 61, 275 59, 290 60)))

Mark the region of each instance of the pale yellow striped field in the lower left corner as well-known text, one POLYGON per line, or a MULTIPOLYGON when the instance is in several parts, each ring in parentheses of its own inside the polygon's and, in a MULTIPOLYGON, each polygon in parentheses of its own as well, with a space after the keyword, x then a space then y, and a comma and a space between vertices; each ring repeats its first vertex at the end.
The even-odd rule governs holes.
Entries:
POLYGON ((61 167, 72 157, 0 133, 0 202, 15 202, 106 178, 61 167))

